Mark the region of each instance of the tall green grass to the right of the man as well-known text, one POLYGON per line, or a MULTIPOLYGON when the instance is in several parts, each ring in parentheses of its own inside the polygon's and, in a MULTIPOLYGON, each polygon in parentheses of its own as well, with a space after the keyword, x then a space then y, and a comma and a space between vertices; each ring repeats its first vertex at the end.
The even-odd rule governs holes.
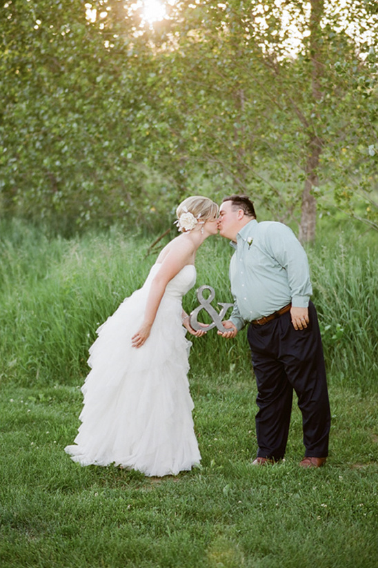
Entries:
POLYGON ((352 236, 341 233, 310 251, 314 301, 330 375, 376 387, 378 246, 366 248, 352 236))

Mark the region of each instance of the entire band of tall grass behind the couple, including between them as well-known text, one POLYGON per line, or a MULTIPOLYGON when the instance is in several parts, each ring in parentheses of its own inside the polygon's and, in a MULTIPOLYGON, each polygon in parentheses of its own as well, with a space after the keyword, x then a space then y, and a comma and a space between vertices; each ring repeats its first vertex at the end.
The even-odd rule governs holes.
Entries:
MULTIPOLYGON (((155 262, 155 253, 147 255, 153 240, 117 228, 48 238, 17 222, 2 231, 1 377, 22 385, 81 382, 97 326, 143 284, 155 262)), ((375 386, 378 375, 378 246, 351 241, 351 233, 334 234, 308 255, 330 377, 365 389, 375 386)), ((228 242, 217 237, 207 239, 197 255, 197 286, 215 288, 215 305, 232 301, 231 254, 228 242)), ((197 306, 195 288, 183 304, 187 311, 197 306)), ((194 373, 249 372, 245 332, 226 341, 214 329, 192 342, 194 373)))

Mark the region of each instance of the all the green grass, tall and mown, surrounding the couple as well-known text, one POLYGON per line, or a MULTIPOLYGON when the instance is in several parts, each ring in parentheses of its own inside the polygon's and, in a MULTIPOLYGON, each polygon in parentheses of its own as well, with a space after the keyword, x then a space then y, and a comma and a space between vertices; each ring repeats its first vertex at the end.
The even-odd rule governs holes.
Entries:
MULTIPOLYGON (((190 355, 201 469, 149 479, 82 468, 63 449, 95 330, 145 280, 154 237, 0 228, 1 568, 378 566, 376 235, 319 231, 308 250, 330 383, 326 467, 298 467, 297 407, 285 462, 252 467, 246 334, 226 342, 213 331, 190 355)), ((197 257, 197 286, 214 286, 217 301, 230 300, 230 253, 208 239, 197 257)), ((196 304, 192 290, 184 305, 196 304)))

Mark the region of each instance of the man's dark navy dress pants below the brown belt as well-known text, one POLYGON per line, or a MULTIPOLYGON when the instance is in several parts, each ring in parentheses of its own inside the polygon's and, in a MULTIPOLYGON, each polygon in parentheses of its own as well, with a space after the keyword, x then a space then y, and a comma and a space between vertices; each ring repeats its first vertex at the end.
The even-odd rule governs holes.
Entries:
POLYGON ((250 324, 248 328, 258 390, 258 457, 284 457, 293 390, 302 413, 305 456, 328 456, 330 404, 319 323, 312 302, 308 315, 310 324, 303 330, 294 329, 290 312, 262 326, 250 324))

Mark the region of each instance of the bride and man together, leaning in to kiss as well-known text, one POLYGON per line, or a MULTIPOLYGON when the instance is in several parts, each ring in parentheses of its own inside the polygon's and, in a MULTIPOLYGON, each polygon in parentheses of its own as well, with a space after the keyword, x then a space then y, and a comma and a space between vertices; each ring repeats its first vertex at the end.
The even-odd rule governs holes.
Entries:
POLYGON ((230 340, 248 324, 257 380, 253 464, 284 458, 295 390, 306 449, 300 465, 319 467, 328 456, 330 409, 304 249, 286 225, 258 223, 244 195, 225 197, 220 207, 208 197, 188 197, 176 214, 181 234, 159 253, 143 286, 97 329, 81 388, 79 433, 66 452, 82 466, 115 464, 146 476, 199 465, 186 332, 201 337, 206 329, 192 328, 182 297, 195 286, 199 246, 219 231, 236 250, 230 262, 235 303, 218 333, 230 340))

